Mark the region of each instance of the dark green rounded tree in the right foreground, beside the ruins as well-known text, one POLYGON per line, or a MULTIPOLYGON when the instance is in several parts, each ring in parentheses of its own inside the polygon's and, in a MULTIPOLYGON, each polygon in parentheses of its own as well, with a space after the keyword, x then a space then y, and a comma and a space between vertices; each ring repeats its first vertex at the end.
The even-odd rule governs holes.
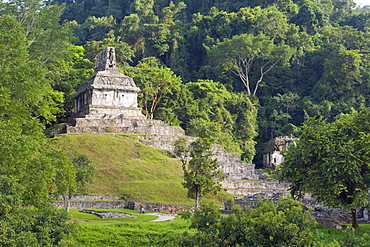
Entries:
MULTIPOLYGON (((329 206, 353 210, 367 205, 369 124, 369 109, 343 115, 333 123, 306 121, 281 167, 281 179, 292 183, 292 194, 299 197, 308 192, 329 206)), ((355 211, 352 217, 356 227, 355 211)))

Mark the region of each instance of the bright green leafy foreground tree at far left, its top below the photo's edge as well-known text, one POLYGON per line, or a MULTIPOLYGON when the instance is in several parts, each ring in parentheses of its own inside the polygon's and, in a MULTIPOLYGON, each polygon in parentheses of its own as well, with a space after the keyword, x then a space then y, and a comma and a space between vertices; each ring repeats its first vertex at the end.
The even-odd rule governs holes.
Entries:
POLYGON ((0 47, 0 175, 18 179, 26 188, 26 204, 38 204, 48 199, 51 184, 58 185, 53 192, 65 193, 74 170, 43 133, 40 120, 50 120, 55 105, 43 64, 28 60, 25 35, 12 17, 2 16, 0 30, 0 42, 6 44, 0 47))

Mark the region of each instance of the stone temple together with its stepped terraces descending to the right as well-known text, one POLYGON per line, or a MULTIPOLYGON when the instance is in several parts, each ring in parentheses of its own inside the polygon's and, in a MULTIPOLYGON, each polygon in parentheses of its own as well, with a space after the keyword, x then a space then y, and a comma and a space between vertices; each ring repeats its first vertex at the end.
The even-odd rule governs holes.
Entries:
MULTIPOLYGON (((104 49, 96 57, 95 75, 80 86, 75 96, 74 118, 67 133, 135 133, 144 144, 170 151, 180 137, 188 142, 196 139, 185 136, 179 127, 146 119, 137 104, 138 92, 133 79, 116 68, 114 48, 104 49)), ((239 154, 226 153, 220 145, 213 145, 212 152, 227 179, 259 179, 254 164, 243 163, 239 154)), ((223 182, 225 189, 233 184, 227 181, 223 182)), ((246 191, 240 182, 238 187, 235 190, 233 186, 231 191, 238 195, 246 191)))

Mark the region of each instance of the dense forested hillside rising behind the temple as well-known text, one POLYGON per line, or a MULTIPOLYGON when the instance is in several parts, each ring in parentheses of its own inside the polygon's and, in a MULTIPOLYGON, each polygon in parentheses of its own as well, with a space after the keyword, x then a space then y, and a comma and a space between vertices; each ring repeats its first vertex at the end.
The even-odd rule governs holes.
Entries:
MULTIPOLYGON (((149 118, 203 134, 247 162, 260 165, 265 143, 295 134, 304 112, 333 121, 369 107, 370 11, 352 0, 50 0, 43 11, 51 10, 48 28, 60 16, 60 32, 73 30, 91 63, 116 47, 149 118)), ((78 54, 60 60, 68 61, 60 78, 74 78, 57 80, 66 102, 89 73, 78 54)), ((58 121, 71 105, 64 109, 58 121)))

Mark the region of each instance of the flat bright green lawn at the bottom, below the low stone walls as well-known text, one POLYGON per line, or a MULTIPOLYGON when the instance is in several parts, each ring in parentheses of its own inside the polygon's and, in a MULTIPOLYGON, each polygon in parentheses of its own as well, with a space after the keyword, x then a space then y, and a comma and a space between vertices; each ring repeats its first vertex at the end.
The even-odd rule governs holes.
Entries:
POLYGON ((79 230, 69 240, 77 246, 164 246, 176 236, 189 231, 189 223, 181 218, 174 221, 151 222, 155 215, 143 215, 128 209, 97 210, 127 213, 138 219, 101 219, 71 209, 71 221, 77 222, 79 230))

